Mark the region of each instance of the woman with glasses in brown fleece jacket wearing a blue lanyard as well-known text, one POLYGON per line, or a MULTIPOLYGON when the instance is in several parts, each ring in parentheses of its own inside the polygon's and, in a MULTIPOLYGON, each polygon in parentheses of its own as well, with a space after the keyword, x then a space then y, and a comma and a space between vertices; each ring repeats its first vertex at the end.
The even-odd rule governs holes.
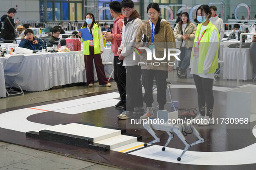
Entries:
MULTIPOLYGON (((172 28, 165 19, 160 19, 160 8, 157 3, 150 3, 147 7, 149 20, 145 21, 139 28, 136 37, 137 47, 148 47, 153 53, 152 60, 147 60, 147 53, 143 52, 140 63, 142 69, 142 84, 145 88, 143 101, 146 103, 146 113, 140 119, 153 118, 153 82, 156 80, 157 102, 159 110, 164 110, 166 104, 166 79, 168 72, 173 70, 174 57, 164 57, 164 51, 167 55, 168 48, 175 48, 175 37, 172 28), (146 38, 146 44, 141 44, 142 37, 146 38), (148 38, 147 38, 148 37, 148 38), (164 50, 165 49, 165 50, 164 50), (155 53, 154 53, 155 51, 155 53), (168 63, 168 64, 167 64, 168 63)), ((143 51, 143 49, 140 49, 143 51)))

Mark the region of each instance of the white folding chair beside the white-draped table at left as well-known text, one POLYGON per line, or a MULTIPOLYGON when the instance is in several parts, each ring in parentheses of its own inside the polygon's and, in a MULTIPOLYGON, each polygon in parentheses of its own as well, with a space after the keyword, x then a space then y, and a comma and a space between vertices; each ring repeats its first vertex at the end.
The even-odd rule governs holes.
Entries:
POLYGON ((16 77, 19 75, 19 70, 22 65, 24 57, 25 57, 24 55, 13 55, 13 56, 7 58, 7 60, 6 60, 6 63, 4 65, 4 69, 3 69, 4 76, 9 76, 13 80, 11 85, 6 86, 6 88, 10 88, 9 91, 7 91, 5 89, 8 97, 10 97, 11 95, 16 95, 16 94, 24 94, 22 88, 16 82, 16 77), (16 92, 13 90, 14 82, 18 85, 21 92, 16 92), (14 92, 14 94, 9 94, 10 92, 14 92))

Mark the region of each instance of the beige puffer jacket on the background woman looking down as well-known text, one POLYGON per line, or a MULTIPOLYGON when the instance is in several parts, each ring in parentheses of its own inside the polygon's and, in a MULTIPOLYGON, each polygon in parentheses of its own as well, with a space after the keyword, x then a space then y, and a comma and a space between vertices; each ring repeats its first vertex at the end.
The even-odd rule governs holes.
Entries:
MULTIPOLYGON (((194 36, 195 36, 196 30, 197 30, 197 27, 192 22, 188 23, 187 28, 185 29, 185 35, 188 35, 188 39, 185 41, 187 48, 193 47, 194 36)), ((180 27, 180 25, 177 24, 175 26, 173 32, 174 32, 175 38, 178 41, 182 41, 183 40, 182 39, 182 37, 183 37, 182 25, 180 27)), ((179 46, 181 44, 179 44, 179 46)), ((177 46, 178 46, 178 44, 177 44, 177 46)), ((179 47, 177 47, 177 48, 179 48, 179 47)))

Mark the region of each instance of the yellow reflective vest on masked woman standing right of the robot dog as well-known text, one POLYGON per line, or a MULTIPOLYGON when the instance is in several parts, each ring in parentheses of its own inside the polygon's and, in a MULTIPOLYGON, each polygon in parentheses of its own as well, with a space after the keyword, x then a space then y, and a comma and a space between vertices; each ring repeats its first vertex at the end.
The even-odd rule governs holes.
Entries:
MULTIPOLYGON (((194 37, 194 45, 193 45, 191 57, 193 57, 193 54, 194 54, 195 43, 197 42, 198 39, 200 40, 200 38, 201 38, 201 37, 198 38, 198 36, 200 34, 200 30, 201 30, 202 25, 203 24, 198 24, 198 28, 197 28, 197 31, 196 31, 196 34, 195 34, 195 37, 194 37)), ((211 34, 214 31, 214 29, 217 31, 218 37, 219 37, 219 31, 211 23, 211 21, 209 21, 208 25, 205 28, 206 31, 204 33, 204 36, 202 37, 202 39, 200 41, 200 44, 199 44, 199 57, 198 57, 198 73, 199 74, 203 74, 204 60, 205 60, 205 57, 206 57, 207 52, 208 52, 209 43, 210 43, 209 41, 210 41, 211 34)), ((203 35, 203 33, 202 33, 202 35, 203 35)), ((209 69, 209 72, 207 72, 207 74, 215 72, 216 69, 218 68, 218 51, 219 51, 219 46, 217 47, 217 51, 216 51, 216 53, 214 55, 214 60, 213 60, 213 62, 211 64, 211 68, 209 69)), ((193 58, 192 58, 192 60, 193 60, 193 58)))

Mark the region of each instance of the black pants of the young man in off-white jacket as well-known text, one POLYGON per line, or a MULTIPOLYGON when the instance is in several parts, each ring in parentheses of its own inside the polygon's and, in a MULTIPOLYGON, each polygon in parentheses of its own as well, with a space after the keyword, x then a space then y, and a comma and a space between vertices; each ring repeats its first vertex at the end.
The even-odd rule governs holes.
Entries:
POLYGON ((126 70, 126 110, 134 111, 143 106, 141 66, 126 66, 126 70))

